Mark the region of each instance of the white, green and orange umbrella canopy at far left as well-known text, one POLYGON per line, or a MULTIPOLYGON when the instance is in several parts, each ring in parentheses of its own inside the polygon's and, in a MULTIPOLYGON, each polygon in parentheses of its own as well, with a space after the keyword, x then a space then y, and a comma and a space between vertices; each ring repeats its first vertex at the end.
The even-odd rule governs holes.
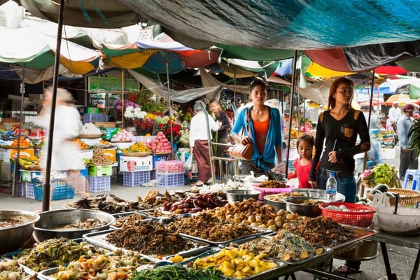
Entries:
MULTIPOLYGON (((20 78, 25 68, 25 83, 38 83, 54 76, 57 38, 41 34, 29 27, 0 29, 0 62, 20 78)), ((101 52, 62 40, 59 73, 75 77, 90 73, 99 66, 101 52)))

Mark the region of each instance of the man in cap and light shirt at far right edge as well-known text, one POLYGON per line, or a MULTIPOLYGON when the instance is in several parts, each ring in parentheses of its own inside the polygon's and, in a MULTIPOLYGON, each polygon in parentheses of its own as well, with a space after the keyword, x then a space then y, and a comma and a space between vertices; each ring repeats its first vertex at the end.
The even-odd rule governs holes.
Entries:
POLYGON ((414 118, 412 118, 414 104, 407 103, 402 107, 402 110, 404 111, 404 115, 398 120, 397 129, 401 147, 399 175, 400 179, 404 180, 407 169, 419 168, 419 159, 416 151, 409 148, 410 139, 408 138, 409 129, 414 124, 414 118))

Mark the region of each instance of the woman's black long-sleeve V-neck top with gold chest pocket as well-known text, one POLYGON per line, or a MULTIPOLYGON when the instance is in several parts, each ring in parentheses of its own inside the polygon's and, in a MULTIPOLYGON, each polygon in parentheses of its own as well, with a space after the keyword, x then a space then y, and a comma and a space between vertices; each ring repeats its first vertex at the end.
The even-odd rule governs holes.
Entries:
POLYGON ((316 167, 321 158, 320 168, 336 172, 353 172, 355 169, 353 156, 370 150, 369 130, 365 116, 361 111, 350 109, 341 120, 335 120, 331 111, 325 111, 318 117, 315 138, 315 155, 312 159, 309 181, 316 181, 316 167), (356 145, 357 135, 360 144, 356 145), (325 149, 323 150, 325 140, 325 149), (328 153, 337 151, 338 162, 328 162, 328 153))

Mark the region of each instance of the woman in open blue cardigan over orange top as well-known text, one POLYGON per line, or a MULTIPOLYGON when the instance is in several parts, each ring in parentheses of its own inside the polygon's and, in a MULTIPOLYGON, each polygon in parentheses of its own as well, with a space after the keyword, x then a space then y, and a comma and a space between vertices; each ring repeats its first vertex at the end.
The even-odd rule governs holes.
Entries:
POLYGON ((280 112, 264 104, 267 98, 266 85, 262 80, 254 80, 250 85, 250 97, 253 102, 248 110, 242 110, 233 125, 231 135, 241 144, 253 144, 251 160, 242 160, 242 174, 260 173, 276 167, 276 155, 279 165, 281 160, 281 118, 280 112), (249 116, 249 130, 244 130, 244 136, 239 134, 246 125, 246 113, 249 116))

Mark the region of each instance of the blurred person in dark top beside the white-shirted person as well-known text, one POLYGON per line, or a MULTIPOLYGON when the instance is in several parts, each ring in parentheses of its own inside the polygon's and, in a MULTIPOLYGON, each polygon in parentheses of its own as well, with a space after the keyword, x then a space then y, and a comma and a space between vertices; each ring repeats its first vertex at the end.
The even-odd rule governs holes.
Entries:
MULTIPOLYGON (((228 115, 221 109, 221 104, 219 104, 218 100, 212 99, 210 101, 210 111, 214 113, 216 121, 221 123, 221 127, 217 132, 217 143, 220 144, 228 144, 228 133, 230 130, 230 121, 228 115)), ((216 148, 216 157, 222 158, 225 154, 225 147, 224 146, 217 146, 216 148)), ((220 168, 218 166, 218 162, 216 162, 216 176, 221 176, 219 174, 220 168)))

